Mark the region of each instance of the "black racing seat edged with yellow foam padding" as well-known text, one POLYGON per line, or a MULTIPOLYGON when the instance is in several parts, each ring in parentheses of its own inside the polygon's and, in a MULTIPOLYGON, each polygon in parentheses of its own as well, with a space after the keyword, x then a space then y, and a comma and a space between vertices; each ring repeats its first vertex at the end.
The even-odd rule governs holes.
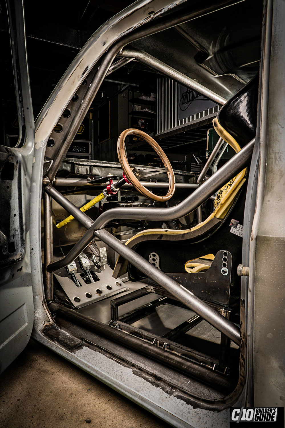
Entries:
MULTIPOLYGON (((255 137, 258 83, 259 77, 256 76, 220 109, 213 120, 217 134, 232 146, 235 152, 255 137)), ((235 269, 241 260, 242 239, 230 233, 229 216, 243 224, 245 181, 246 168, 217 192, 214 211, 196 226, 184 230, 147 229, 130 238, 126 245, 146 259, 150 253, 158 253, 161 268, 167 273, 185 271, 187 260, 199 259, 209 253, 216 254, 226 248, 232 254, 232 268, 235 269), (169 245, 165 245, 164 241, 170 241, 169 245)), ((119 256, 113 276, 118 278, 127 270, 132 280, 144 277, 119 256)))

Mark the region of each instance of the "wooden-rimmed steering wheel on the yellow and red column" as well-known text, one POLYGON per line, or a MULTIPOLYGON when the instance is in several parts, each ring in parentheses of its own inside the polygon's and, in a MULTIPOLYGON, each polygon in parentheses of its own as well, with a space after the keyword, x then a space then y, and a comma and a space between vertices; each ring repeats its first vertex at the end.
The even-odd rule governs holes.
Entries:
POLYGON ((168 199, 170 199, 171 196, 173 196, 173 193, 175 191, 175 176, 174 176, 172 166, 167 156, 165 155, 165 152, 158 145, 158 143, 156 143, 156 141, 153 140, 153 138, 151 138, 149 135, 147 135, 145 132, 141 131, 140 129, 134 129, 134 128, 126 129, 120 134, 118 138, 117 153, 118 153, 120 164, 123 168, 124 173, 126 174, 126 178, 142 195, 147 196, 147 198, 153 199, 154 201, 157 201, 157 202, 168 201, 168 199), (141 169, 135 168, 135 166, 131 167, 129 165, 129 161, 126 155, 126 148, 125 148, 125 139, 129 134, 138 135, 143 140, 147 141, 147 143, 149 143, 150 146, 153 147, 153 149, 159 155, 165 168, 152 168, 152 169, 141 170, 141 169), (162 172, 167 172, 168 181, 169 181, 168 192, 165 196, 155 195, 139 182, 140 178, 149 177, 150 175, 155 175, 162 172))

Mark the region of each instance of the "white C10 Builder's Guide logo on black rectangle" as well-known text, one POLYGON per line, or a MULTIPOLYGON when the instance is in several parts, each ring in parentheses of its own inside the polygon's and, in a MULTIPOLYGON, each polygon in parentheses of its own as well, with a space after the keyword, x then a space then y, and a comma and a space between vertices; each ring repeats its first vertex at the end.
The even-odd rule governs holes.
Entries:
POLYGON ((231 428, 284 428, 284 407, 231 407, 231 428))

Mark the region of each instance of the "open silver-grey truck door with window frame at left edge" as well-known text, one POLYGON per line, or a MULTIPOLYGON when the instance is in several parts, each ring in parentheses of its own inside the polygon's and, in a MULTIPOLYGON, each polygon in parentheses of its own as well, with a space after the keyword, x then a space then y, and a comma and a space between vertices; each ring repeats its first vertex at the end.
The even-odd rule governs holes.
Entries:
POLYGON ((0 146, 0 372, 25 348, 34 318, 29 202, 35 126, 24 5, 21 0, 8 0, 7 9, 19 138, 15 147, 0 146))

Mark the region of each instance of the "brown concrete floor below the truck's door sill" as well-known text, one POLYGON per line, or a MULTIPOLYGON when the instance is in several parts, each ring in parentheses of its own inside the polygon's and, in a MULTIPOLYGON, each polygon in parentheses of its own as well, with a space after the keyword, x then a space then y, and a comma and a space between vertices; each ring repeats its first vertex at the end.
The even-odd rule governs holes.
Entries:
POLYGON ((30 340, 0 376, 1 428, 170 428, 30 340))

